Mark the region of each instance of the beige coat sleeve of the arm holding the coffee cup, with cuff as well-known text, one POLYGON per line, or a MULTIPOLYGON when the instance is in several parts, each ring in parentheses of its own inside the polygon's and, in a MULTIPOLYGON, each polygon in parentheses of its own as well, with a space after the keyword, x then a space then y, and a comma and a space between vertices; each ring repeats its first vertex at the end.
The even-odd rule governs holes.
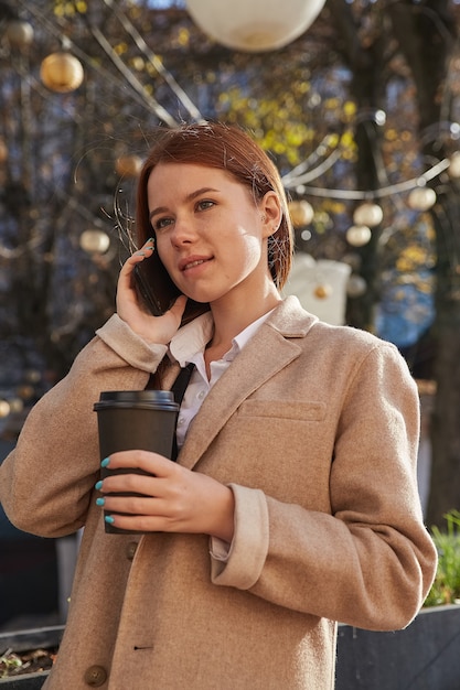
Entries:
POLYGON ((417 489, 418 421, 406 363, 393 346, 374 347, 344 391, 331 514, 233 485, 235 537, 226 561, 212 559, 214 584, 356 627, 406 626, 437 565, 417 489))

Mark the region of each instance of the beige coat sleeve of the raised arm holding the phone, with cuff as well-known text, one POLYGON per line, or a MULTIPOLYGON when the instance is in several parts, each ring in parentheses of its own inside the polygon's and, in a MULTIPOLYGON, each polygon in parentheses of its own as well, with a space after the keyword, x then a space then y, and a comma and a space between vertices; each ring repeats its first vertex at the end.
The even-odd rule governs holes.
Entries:
POLYGON ((99 450, 94 403, 103 390, 145 388, 165 346, 150 346, 116 314, 69 373, 30 411, 0 466, 0 499, 13 525, 42 537, 84 526, 99 450))

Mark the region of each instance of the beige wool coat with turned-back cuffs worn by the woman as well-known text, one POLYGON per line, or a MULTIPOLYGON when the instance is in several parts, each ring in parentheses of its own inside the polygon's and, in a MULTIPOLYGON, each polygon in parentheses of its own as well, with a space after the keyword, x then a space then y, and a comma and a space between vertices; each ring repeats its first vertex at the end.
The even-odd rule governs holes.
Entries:
MULTIPOLYGON (((85 526, 46 690, 330 690, 336 621, 406 626, 436 551, 416 484, 418 397, 385 342, 288 298, 215 384, 179 461, 229 484, 227 562, 205 536, 106 535, 93 405, 163 357, 113 316, 29 414, 0 470, 21 529, 85 526)), ((164 377, 169 388, 172 367, 164 377)))

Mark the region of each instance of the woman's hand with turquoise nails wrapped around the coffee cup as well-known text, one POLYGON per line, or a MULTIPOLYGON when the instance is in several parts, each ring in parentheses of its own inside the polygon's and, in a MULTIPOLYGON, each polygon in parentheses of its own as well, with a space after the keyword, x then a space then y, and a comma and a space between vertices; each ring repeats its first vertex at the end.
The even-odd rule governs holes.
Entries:
POLYGON ((192 472, 149 451, 122 451, 110 455, 108 470, 131 467, 132 474, 111 475, 97 488, 98 505, 113 517, 114 527, 137 531, 190 532, 231 542, 234 496, 228 486, 192 472), (136 468, 149 475, 135 474, 136 468), (111 493, 142 496, 109 496, 111 493), (129 515, 116 515, 127 513, 129 515))

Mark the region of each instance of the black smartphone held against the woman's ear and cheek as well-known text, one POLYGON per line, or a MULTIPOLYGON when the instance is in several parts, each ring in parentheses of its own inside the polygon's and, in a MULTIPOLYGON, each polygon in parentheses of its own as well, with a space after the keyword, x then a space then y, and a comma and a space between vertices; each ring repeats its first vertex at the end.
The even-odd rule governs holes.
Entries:
MULTIPOLYGON (((148 259, 143 259, 143 261, 136 265, 135 280, 138 293, 153 316, 164 314, 181 294, 157 251, 148 259)), ((182 315, 181 326, 196 319, 200 314, 204 314, 208 309, 207 302, 201 303, 189 299, 182 315)))

